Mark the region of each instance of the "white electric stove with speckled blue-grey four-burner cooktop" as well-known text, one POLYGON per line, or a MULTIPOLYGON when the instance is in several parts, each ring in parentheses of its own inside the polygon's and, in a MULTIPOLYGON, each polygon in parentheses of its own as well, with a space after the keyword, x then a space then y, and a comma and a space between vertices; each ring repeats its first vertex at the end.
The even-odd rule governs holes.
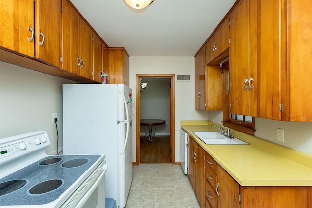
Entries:
POLYGON ((47 132, 0 139, 0 207, 105 207, 105 155, 47 155, 47 132))

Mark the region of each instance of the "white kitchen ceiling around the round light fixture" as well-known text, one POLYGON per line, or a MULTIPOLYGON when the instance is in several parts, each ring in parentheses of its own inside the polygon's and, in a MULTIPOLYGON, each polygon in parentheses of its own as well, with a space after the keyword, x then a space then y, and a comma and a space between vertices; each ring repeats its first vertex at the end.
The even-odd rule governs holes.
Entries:
POLYGON ((71 0, 109 47, 130 56, 194 56, 235 0, 154 0, 142 10, 123 0, 71 0))

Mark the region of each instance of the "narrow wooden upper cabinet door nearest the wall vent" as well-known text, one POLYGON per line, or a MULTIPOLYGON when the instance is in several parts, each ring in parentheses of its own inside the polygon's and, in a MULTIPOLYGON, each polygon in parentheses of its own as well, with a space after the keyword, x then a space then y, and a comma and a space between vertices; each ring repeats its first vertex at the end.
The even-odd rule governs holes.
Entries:
POLYGON ((206 110, 205 47, 195 56, 195 109, 206 110))

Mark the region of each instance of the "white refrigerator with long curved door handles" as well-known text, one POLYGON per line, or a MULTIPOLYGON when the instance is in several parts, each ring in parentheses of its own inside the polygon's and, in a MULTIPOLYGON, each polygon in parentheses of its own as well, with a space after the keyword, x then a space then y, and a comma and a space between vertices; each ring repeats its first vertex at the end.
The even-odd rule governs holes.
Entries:
POLYGON ((124 84, 63 85, 65 154, 105 153, 106 198, 126 205, 132 182, 132 93, 124 84))

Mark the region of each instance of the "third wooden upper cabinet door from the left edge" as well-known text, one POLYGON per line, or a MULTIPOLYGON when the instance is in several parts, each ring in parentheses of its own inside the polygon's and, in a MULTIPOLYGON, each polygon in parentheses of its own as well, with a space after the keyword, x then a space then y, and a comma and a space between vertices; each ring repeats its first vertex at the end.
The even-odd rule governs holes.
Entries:
POLYGON ((80 53, 78 14, 63 0, 63 70, 80 75, 78 57, 80 53))

